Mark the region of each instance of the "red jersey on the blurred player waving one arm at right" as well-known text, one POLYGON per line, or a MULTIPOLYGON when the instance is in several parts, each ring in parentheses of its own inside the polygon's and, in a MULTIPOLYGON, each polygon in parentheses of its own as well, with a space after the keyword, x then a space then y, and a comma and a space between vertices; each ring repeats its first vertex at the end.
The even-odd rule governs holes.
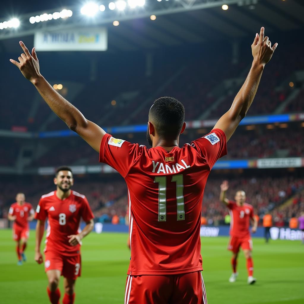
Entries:
POLYGON ((250 218, 253 218, 253 207, 247 203, 237 206, 236 202, 229 201, 227 205, 230 213, 230 235, 233 237, 250 236, 250 218))

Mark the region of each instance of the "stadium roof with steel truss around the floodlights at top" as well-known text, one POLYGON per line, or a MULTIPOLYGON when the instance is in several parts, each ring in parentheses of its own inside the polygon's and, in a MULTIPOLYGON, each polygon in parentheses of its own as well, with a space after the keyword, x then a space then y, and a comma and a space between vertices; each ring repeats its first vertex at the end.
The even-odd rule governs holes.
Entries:
MULTIPOLYGON (((94 17, 82 15, 80 6, 65 8, 73 11, 70 18, 34 24, 29 22, 31 16, 50 14, 56 9, 16 16, 20 26, 0 30, 0 40, 30 36, 39 30, 56 31, 104 25, 109 31, 110 50, 134 50, 220 40, 227 36, 237 38, 252 35, 262 25, 268 32, 300 29, 304 26, 302 0, 146 0, 143 7, 126 7, 123 11, 108 9, 110 1, 96 2, 105 5, 105 11, 98 11, 94 17), (221 8, 224 4, 229 5, 228 10, 221 8), (155 22, 150 20, 151 15, 157 16, 155 22), (114 20, 123 23, 121 26, 112 26, 114 20)), ((6 43, 4 47, 10 49, 6 43)))

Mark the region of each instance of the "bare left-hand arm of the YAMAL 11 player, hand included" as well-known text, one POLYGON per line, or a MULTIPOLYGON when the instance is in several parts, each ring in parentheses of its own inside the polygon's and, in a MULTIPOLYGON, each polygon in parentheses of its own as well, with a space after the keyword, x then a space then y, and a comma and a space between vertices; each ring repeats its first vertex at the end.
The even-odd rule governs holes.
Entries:
POLYGON ((105 131, 95 123, 92 123, 92 121, 86 119, 74 105, 58 94, 45 78, 43 78, 40 74, 39 60, 35 48, 33 48, 32 54, 30 54, 25 44, 22 41, 19 43, 24 54, 18 57, 19 62, 13 59, 10 59, 10 61, 19 68, 26 79, 33 83, 51 110, 62 119, 71 130, 76 132, 93 149, 99 152, 100 142, 105 135, 105 131))

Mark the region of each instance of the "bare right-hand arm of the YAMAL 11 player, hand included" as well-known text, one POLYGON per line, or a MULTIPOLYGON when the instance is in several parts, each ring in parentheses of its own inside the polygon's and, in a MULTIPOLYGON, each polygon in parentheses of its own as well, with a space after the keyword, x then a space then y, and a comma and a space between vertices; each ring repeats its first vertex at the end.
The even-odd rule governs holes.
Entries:
POLYGON ((234 98, 231 108, 216 123, 214 129, 221 129, 226 134, 227 141, 230 139, 240 121, 245 117, 260 83, 265 64, 271 59, 278 43, 271 47, 269 38, 264 37, 264 27, 261 28, 260 36, 256 34, 251 45, 253 62, 249 74, 234 98))

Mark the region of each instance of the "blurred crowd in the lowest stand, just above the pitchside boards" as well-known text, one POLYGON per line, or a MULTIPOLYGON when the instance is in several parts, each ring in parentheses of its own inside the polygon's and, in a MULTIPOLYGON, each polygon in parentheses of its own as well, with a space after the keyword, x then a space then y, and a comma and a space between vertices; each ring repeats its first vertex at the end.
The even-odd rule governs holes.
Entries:
MULTIPOLYGON (((219 178, 211 177, 207 181, 202 203, 202 216, 206 217, 209 225, 224 223, 228 209, 219 201, 219 178)), ((74 190, 86 195, 94 212, 96 220, 110 222, 113 216, 118 216, 124 222, 128 205, 127 189, 122 178, 115 176, 111 180, 96 181, 94 178, 83 179, 76 177, 74 190)), ((42 194, 54 190, 52 179, 38 178, 33 181, 19 181, 16 183, 2 183, 0 189, 0 206, 7 209, 14 201, 16 189, 26 193, 26 200, 36 206, 42 194)), ((237 190, 244 190, 247 202, 254 206, 254 211, 260 219, 266 211, 270 211, 274 224, 283 226, 292 216, 299 216, 304 211, 304 181, 293 177, 246 177, 231 178, 228 199, 233 200, 237 190), (290 201, 288 201, 290 200, 290 201), (287 202, 287 203, 286 203, 287 202), (289 202, 289 203, 288 203, 289 202), (284 204, 283 204, 284 203, 284 204), (283 205, 282 205, 283 204, 283 205)))

